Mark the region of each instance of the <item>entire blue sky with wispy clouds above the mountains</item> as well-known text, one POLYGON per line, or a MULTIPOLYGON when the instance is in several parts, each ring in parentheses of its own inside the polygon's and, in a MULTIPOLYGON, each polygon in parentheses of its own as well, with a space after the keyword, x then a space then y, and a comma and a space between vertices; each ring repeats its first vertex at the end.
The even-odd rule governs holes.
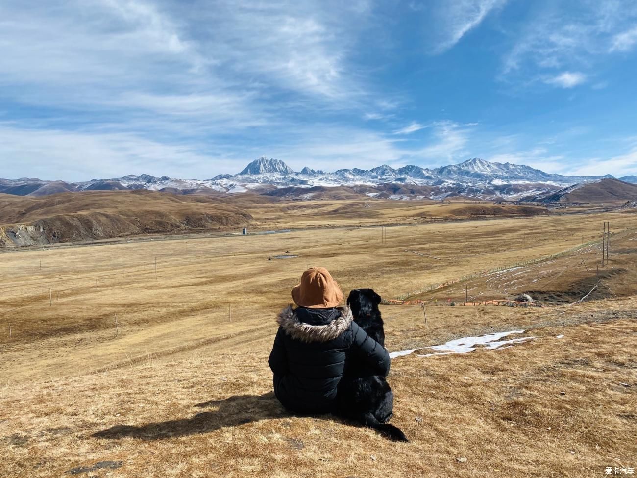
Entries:
POLYGON ((637 174, 634 0, 0 3, 0 177, 637 174))

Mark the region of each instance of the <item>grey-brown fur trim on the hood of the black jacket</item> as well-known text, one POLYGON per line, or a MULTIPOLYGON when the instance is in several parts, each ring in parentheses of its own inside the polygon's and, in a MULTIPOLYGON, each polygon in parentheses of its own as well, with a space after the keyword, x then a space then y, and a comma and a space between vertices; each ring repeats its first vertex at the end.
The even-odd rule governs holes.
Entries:
POLYGON ((276 317, 276 322, 290 337, 301 340, 301 342, 329 342, 340 337, 345 332, 354 317, 349 307, 338 307, 341 316, 326 325, 312 325, 301 322, 296 316, 296 312, 289 305, 284 308, 276 317))

